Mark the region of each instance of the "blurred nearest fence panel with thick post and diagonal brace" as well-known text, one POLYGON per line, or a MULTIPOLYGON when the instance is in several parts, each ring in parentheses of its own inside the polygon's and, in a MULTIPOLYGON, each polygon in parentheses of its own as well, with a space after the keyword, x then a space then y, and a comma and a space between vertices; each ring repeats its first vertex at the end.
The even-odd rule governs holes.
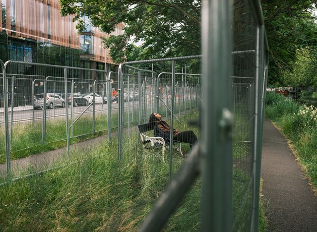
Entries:
MULTIPOLYGON (((261 150, 268 75, 268 43, 261 5, 257 0, 203 1, 202 9, 204 76, 199 147, 192 151, 170 181, 140 231, 158 231, 199 173, 202 175, 203 231, 259 230, 261 150)), ((173 78, 178 59, 170 59, 173 78)), ((162 60, 126 65, 159 61, 162 60)), ((121 72, 124 65, 120 67, 121 72)), ((119 75, 120 78, 123 77, 119 75)), ((172 87, 175 87, 174 83, 172 87)), ((174 118, 171 113, 171 128, 174 118)), ((171 141, 172 138, 171 134, 171 141)), ((120 149, 118 153, 124 155, 120 149)), ((171 163, 170 156, 170 166, 171 163)))

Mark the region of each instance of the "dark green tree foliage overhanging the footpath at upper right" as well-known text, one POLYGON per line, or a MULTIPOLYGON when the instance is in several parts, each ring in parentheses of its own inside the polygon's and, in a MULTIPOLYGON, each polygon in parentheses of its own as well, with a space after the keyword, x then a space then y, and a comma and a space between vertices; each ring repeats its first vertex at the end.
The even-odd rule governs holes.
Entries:
MULTIPOLYGON (((297 67, 298 52, 305 49, 310 59, 317 50, 316 18, 312 16, 311 0, 262 0, 267 38, 270 48, 268 84, 284 86, 283 73, 297 67)), ((313 62, 313 61, 312 61, 313 62)), ((296 70, 295 70, 296 72, 296 70)), ((285 77, 285 76, 284 76, 285 77)))

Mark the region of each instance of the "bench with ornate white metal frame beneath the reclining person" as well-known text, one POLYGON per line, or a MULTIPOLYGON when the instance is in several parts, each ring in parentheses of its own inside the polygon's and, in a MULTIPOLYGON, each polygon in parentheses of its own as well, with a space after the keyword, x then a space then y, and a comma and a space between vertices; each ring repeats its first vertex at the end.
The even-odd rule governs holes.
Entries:
MULTIPOLYGON (((152 123, 138 125, 138 129, 139 129, 139 135, 141 138, 142 147, 144 149, 155 149, 157 147, 161 147, 162 158, 163 158, 163 161, 165 162, 164 152, 165 152, 166 147, 169 147, 169 142, 165 143, 165 140, 162 137, 148 136, 145 134, 148 131, 154 130, 152 123)), ((180 154, 183 156, 182 151, 181 151, 181 147, 180 147, 180 143, 179 143, 179 147, 176 144, 176 142, 173 142, 173 145, 176 147, 177 151, 180 152, 180 154)))

